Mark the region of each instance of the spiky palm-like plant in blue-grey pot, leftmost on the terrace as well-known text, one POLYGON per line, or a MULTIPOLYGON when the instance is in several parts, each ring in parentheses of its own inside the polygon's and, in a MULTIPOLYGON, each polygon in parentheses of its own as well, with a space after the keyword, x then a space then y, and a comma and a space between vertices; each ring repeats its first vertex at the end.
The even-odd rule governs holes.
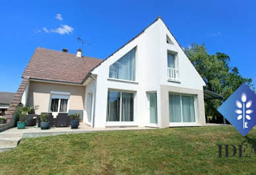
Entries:
POLYGON ((16 107, 16 113, 18 114, 18 122, 17 122, 17 128, 18 129, 24 129, 26 125, 26 115, 28 112, 32 110, 38 109, 38 106, 36 107, 28 107, 28 106, 18 106, 16 107))

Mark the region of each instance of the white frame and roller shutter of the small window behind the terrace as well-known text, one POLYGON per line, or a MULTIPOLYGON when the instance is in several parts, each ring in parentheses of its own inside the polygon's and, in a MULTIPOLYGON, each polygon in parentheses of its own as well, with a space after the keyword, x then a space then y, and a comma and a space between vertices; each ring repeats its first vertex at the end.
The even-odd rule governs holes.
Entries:
POLYGON ((68 113, 69 112, 69 101, 70 101, 70 93, 65 91, 51 91, 50 93, 50 99, 49 99, 49 108, 48 111, 53 113, 53 116, 59 114, 59 113, 68 113), (52 99, 59 99, 58 101, 58 109, 57 112, 51 111, 51 100, 52 99), (61 108, 61 99, 67 99, 67 111, 66 112, 59 112, 59 109, 61 108))

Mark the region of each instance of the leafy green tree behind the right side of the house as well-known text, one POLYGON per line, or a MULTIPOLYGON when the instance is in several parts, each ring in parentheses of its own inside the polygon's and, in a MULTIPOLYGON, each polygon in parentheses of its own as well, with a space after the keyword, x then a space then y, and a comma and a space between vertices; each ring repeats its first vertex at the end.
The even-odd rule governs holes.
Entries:
MULTIPOLYGON (((191 47, 186 47, 184 51, 205 80, 205 89, 222 95, 224 101, 243 83, 253 88, 251 78, 243 78, 236 66, 230 66, 230 57, 225 53, 210 55, 204 44, 196 43, 192 43, 191 47)), ((206 116, 221 116, 217 111, 221 103, 220 100, 205 100, 206 116)))

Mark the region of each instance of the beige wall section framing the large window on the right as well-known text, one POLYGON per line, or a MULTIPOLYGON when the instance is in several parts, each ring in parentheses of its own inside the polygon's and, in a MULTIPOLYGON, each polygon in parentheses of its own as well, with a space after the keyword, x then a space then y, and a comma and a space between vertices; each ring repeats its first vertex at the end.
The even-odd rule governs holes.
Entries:
POLYGON ((203 90, 177 88, 174 86, 160 86, 161 116, 160 128, 169 127, 169 93, 195 95, 197 107, 197 124, 205 125, 205 101, 203 90))

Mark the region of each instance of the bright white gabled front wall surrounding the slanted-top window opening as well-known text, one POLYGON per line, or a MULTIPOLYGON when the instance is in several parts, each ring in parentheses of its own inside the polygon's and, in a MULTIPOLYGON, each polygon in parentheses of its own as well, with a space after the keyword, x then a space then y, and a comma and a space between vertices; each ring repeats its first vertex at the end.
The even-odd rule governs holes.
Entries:
POLYGON ((94 69, 92 74, 97 75, 95 127, 106 126, 108 89, 134 91, 135 122, 133 124, 137 126, 148 126, 149 112, 146 91, 157 92, 158 123, 161 124, 160 85, 203 90, 203 85, 205 84, 160 19, 147 28, 143 34, 133 39, 133 41, 125 45, 94 69), (168 34, 172 42, 174 42, 174 45, 166 43, 166 34, 168 34), (115 63, 115 61, 134 47, 137 47, 137 72, 135 82, 117 81, 108 78, 110 65, 115 63), (180 83, 168 82, 168 49, 176 51, 178 54, 180 83))

